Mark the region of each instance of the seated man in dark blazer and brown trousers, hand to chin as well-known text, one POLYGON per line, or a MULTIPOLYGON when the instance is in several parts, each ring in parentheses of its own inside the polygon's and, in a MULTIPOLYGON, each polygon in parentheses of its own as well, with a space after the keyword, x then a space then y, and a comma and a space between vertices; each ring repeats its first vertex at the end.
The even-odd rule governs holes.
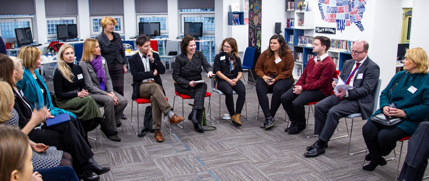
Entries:
POLYGON ((145 35, 140 35, 136 39, 136 45, 137 48, 139 48, 139 53, 128 58, 130 71, 133 75, 133 95, 131 95, 131 99, 151 99, 152 128, 155 130, 155 140, 157 142, 163 142, 164 137, 161 134, 162 115, 167 114, 170 124, 178 124, 183 121, 184 118, 173 113, 173 107, 168 104, 165 98, 160 77, 160 74, 165 73, 165 66, 161 63, 158 53, 154 53, 150 50, 151 40, 145 35))

